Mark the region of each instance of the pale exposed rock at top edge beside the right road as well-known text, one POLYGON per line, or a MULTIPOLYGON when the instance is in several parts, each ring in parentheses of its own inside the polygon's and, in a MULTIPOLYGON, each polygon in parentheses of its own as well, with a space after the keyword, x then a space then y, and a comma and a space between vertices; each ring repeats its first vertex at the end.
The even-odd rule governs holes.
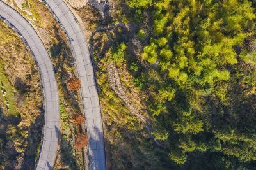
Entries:
POLYGON ((109 1, 108 0, 67 0, 67 2, 77 10, 83 6, 90 5, 100 11, 102 17, 108 15, 109 1))

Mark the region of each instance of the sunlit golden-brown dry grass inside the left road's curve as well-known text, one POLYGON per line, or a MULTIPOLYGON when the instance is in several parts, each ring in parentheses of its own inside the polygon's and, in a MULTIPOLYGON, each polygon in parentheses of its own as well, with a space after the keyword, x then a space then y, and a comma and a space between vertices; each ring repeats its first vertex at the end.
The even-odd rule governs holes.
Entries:
MULTIPOLYGON (((25 122, 21 122, 20 127, 29 126, 30 122, 35 121, 42 107, 42 91, 40 88, 40 76, 35 62, 32 59, 26 45, 12 29, 1 21, 3 29, 0 30, 0 61, 4 65, 6 74, 13 87, 17 81, 22 81, 29 88, 29 94, 16 93, 17 108, 19 108, 21 117, 25 122), (8 37, 8 38, 7 38, 8 37)), ((24 85, 25 85, 24 84, 24 85)))

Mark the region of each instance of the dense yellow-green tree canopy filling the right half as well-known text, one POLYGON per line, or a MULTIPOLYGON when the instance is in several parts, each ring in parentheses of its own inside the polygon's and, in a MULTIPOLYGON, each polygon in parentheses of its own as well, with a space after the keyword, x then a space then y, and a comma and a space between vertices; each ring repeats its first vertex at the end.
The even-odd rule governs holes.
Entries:
MULTIPOLYGON (((153 20, 151 38, 141 53, 152 68, 141 71, 134 83, 155 92, 148 98, 156 121, 154 135, 165 140, 170 159, 185 166, 195 157, 202 162, 214 159, 202 167, 255 166, 253 1, 127 4, 135 17, 150 11, 153 20)), ((139 38, 143 32, 138 32, 139 38)))

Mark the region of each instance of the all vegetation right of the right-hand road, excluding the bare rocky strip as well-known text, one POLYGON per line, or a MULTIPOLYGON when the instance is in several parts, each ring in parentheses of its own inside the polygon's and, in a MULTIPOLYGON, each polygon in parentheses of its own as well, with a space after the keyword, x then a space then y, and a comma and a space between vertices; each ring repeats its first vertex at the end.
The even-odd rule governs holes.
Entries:
POLYGON ((111 8, 107 25, 126 25, 90 38, 109 169, 253 169, 255 2, 127 0, 111 8), (109 60, 162 145, 110 88, 109 60))

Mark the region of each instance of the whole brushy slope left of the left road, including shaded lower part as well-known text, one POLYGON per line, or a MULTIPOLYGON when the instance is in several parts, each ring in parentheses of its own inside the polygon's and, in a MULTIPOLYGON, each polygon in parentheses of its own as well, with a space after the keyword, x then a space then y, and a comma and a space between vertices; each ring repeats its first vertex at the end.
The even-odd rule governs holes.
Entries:
POLYGON ((43 123, 40 76, 22 39, 2 20, 0 27, 0 62, 12 84, 16 109, 20 115, 20 118, 15 118, 0 113, 1 138, 7 139, 0 150, 8 148, 4 155, 5 161, 0 162, 0 169, 19 168, 24 162, 33 167, 43 123), (20 85, 26 86, 28 90, 20 92, 20 85), (13 124, 13 121, 18 121, 18 124, 13 124))

